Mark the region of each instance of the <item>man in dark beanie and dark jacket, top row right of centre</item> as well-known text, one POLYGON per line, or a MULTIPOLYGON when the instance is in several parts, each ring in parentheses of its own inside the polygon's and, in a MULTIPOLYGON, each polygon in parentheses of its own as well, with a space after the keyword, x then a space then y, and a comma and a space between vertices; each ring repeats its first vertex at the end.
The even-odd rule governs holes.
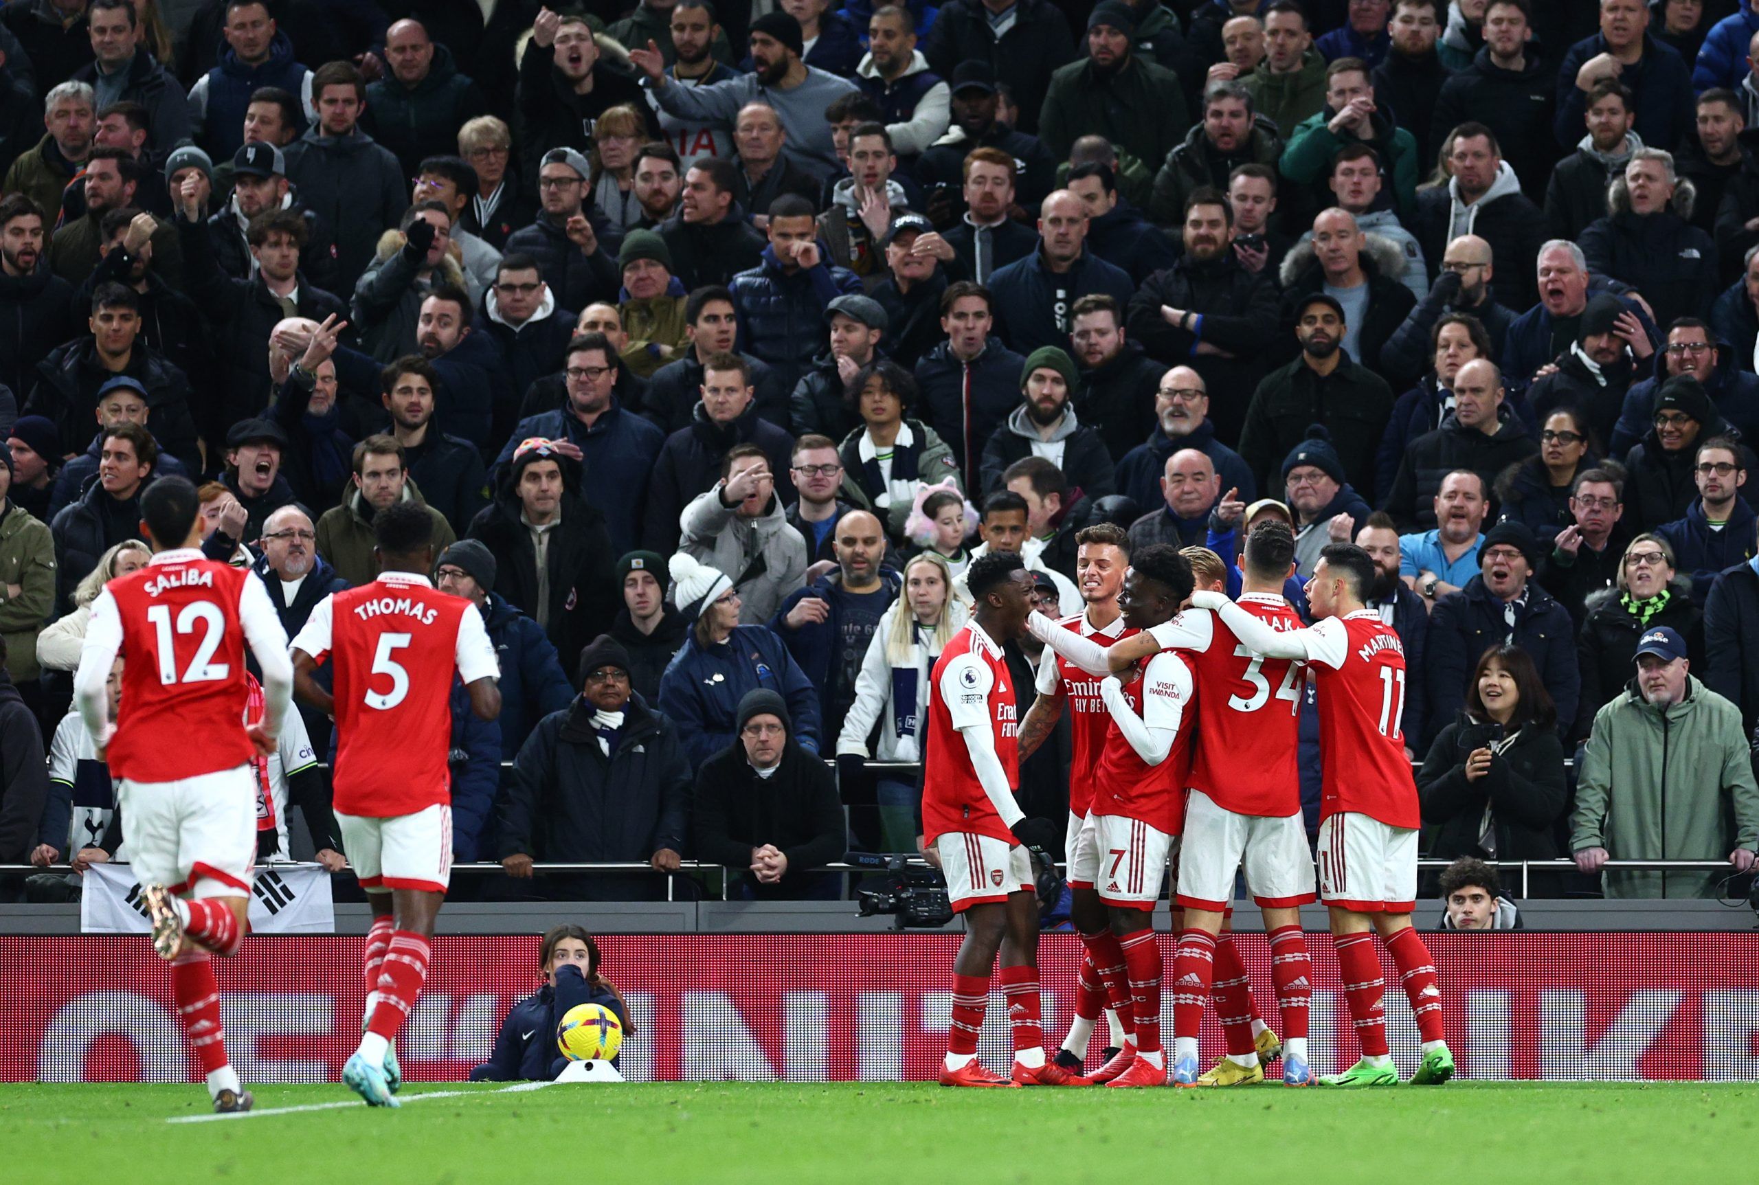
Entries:
POLYGON ((1179 76, 1131 51, 1136 14, 1101 0, 1087 18, 1087 56, 1050 76, 1038 135, 1057 160, 1077 135, 1105 135, 1142 162, 1164 160, 1191 127, 1179 76), (1154 113, 1152 118, 1143 118, 1154 113))

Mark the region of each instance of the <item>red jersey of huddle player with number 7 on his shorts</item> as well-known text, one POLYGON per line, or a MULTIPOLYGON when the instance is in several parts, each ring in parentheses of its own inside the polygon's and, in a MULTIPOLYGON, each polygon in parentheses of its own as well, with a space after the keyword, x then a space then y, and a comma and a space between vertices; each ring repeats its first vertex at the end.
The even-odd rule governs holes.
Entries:
POLYGON ((1179 835, 1186 825, 1186 782, 1191 774, 1191 666, 1182 654, 1161 651, 1138 663, 1124 684, 1124 698, 1150 728, 1173 728, 1173 747, 1159 765, 1149 765, 1113 723, 1094 770, 1092 814, 1119 814, 1179 835))

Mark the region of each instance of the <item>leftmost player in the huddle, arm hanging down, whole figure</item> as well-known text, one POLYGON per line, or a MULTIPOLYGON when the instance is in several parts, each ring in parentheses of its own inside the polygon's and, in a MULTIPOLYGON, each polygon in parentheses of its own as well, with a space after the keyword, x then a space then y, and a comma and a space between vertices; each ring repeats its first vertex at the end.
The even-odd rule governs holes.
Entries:
POLYGON ((934 844, 946 897, 966 916, 953 960, 953 1014, 943 1087, 1085 1087, 1045 1060, 1038 1004, 1038 895, 1027 847, 1057 842, 1015 802, 1020 717, 1003 645, 1025 631, 1033 577, 1015 552, 980 556, 966 570, 971 621, 941 651, 929 679, 929 751, 922 774, 923 839, 934 844), (990 969, 1013 1029, 1013 1072, 978 1062, 990 969))

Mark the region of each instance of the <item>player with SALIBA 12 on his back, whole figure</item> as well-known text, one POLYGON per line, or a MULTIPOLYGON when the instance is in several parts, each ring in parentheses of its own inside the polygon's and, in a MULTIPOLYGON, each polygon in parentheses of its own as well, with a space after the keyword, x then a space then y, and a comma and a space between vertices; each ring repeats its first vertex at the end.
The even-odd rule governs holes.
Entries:
POLYGON ((178 1018, 208 1076, 215 1111, 248 1111, 252 1094, 225 1053, 209 955, 236 955, 250 930, 257 863, 252 761, 274 752, 292 703, 287 633, 248 568, 204 559, 188 480, 141 494, 153 559, 104 585, 79 651, 74 700, 121 786, 123 839, 142 884, 153 949, 171 962, 178 1018), (245 643, 262 672, 262 721, 245 724, 245 643), (123 658, 111 721, 109 682, 123 658))

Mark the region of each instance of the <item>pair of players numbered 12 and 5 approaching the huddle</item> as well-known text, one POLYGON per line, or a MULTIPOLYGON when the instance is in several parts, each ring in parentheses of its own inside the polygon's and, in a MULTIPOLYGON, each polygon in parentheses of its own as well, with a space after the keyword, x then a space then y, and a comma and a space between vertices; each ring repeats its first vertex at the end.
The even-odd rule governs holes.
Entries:
POLYGON ((171 963, 215 1111, 252 1108, 227 1058, 209 958, 236 955, 250 925, 262 767, 296 691, 336 719, 336 821, 373 911, 361 1046, 343 1081, 373 1106, 398 1106, 396 1039, 427 978, 452 869, 454 679, 477 716, 501 710, 482 615, 427 582, 433 519, 419 503, 375 515, 378 578, 324 600, 290 649, 262 582, 202 557, 190 482, 153 482, 141 515, 153 559, 93 603, 74 694, 99 758, 121 779, 153 948, 171 963), (246 645, 260 682, 245 666, 246 645), (106 682, 118 659, 113 721, 106 682), (325 661, 331 689, 315 677, 325 661))

